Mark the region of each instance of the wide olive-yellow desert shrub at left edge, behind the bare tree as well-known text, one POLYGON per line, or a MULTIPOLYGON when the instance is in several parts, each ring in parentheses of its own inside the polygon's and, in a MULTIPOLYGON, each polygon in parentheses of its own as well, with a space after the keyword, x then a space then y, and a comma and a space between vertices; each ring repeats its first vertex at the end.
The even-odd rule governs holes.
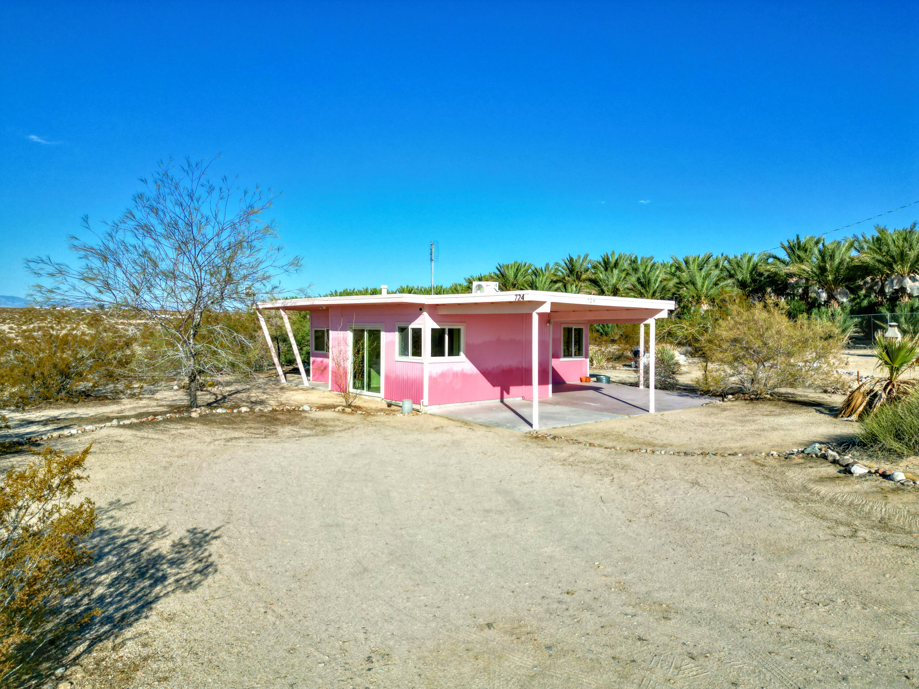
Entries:
POLYGON ((0 405, 78 400, 123 377, 136 334, 114 315, 23 309, 0 334, 0 405))

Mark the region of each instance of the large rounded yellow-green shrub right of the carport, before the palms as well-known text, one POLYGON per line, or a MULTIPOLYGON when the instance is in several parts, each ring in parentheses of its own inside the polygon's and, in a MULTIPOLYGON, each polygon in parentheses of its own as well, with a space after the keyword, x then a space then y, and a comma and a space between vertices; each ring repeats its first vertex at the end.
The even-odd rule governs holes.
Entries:
POLYGON ((779 388, 826 385, 845 337, 832 322, 789 320, 776 300, 737 307, 713 323, 701 343, 702 390, 739 390, 754 398, 779 388))

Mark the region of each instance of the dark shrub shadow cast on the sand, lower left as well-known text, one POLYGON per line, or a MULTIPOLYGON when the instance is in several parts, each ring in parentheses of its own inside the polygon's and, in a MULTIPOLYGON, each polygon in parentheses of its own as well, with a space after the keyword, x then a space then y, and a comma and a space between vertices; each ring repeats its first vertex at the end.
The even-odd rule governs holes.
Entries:
POLYGON ((96 531, 88 541, 95 562, 77 577, 81 593, 52 616, 40 643, 17 649, 23 664, 15 676, 0 678, 0 685, 6 680, 28 686, 51 678, 58 668, 113 641, 159 601, 196 590, 217 571, 210 546, 221 537, 220 526, 193 527, 176 537, 165 526, 148 530, 120 524, 118 513, 127 506, 117 501, 96 508, 96 531))

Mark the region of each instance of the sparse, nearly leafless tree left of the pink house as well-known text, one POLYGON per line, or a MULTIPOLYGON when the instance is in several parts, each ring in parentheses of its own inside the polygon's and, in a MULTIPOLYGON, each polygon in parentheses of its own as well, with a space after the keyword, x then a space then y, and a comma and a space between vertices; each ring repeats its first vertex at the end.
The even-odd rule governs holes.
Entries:
POLYGON ((152 333, 146 366, 187 380, 192 407, 203 375, 254 366, 254 343, 221 316, 249 309, 301 265, 284 257, 275 223, 264 219, 276 195, 235 178, 215 185, 212 162, 161 163, 101 236, 84 218, 96 241, 70 237, 75 267, 50 256, 26 262, 44 280, 32 289, 39 302, 95 305, 145 323, 152 333))

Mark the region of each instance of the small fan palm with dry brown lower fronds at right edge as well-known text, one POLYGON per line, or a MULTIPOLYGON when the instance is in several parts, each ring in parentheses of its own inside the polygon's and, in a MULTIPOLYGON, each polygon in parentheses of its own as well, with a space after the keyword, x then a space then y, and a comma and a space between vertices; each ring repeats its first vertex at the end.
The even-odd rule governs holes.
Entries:
POLYGON ((900 340, 888 340, 878 333, 872 349, 878 358, 878 366, 887 374, 886 378, 866 380, 852 390, 836 418, 860 418, 862 414, 873 412, 919 389, 919 380, 902 377, 907 371, 919 366, 919 339, 903 337, 900 340))

